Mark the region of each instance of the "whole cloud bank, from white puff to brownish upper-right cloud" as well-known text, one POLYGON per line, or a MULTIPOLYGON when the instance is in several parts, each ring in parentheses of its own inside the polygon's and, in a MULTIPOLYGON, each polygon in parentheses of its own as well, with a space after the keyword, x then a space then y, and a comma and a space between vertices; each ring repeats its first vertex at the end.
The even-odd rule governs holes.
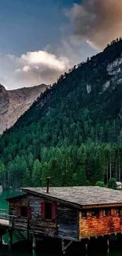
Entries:
POLYGON ((20 57, 0 54, 0 83, 9 89, 52 84, 73 65, 102 50, 122 35, 122 0, 83 0, 65 10, 70 22, 61 26, 57 45, 20 57))

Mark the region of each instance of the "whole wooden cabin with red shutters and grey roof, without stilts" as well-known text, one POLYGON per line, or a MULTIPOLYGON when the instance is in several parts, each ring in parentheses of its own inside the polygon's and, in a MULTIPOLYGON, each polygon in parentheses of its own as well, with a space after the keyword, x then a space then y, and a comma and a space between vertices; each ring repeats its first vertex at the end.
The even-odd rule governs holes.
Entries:
POLYGON ((23 188, 9 198, 9 228, 80 241, 122 232, 122 192, 104 187, 23 188))

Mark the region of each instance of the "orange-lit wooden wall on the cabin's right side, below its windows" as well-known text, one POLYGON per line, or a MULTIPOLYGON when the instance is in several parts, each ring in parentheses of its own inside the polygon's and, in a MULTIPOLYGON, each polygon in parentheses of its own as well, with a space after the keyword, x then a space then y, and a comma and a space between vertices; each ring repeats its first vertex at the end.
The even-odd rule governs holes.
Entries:
POLYGON ((117 215, 115 209, 110 216, 104 216, 104 210, 100 210, 98 217, 92 217, 91 210, 87 211, 87 217, 79 212, 79 239, 116 232, 122 232, 122 216, 117 215))

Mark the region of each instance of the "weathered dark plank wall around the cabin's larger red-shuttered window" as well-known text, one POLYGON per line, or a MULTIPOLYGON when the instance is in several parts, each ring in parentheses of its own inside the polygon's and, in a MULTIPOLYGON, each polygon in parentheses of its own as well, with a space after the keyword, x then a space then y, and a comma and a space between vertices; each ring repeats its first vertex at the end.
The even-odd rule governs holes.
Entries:
POLYGON ((41 202, 43 198, 29 195, 29 206, 31 207, 31 219, 29 229, 31 231, 43 232, 46 236, 59 236, 71 239, 78 238, 78 213, 57 204, 57 213, 55 221, 46 221, 41 219, 41 202))

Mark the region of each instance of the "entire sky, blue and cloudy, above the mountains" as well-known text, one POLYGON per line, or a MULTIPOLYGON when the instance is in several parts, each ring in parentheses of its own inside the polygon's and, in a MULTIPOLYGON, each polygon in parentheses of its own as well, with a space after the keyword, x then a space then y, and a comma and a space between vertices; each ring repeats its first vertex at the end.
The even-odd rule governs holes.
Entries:
POLYGON ((7 89, 52 84, 120 36, 121 0, 4 0, 0 83, 7 89))

